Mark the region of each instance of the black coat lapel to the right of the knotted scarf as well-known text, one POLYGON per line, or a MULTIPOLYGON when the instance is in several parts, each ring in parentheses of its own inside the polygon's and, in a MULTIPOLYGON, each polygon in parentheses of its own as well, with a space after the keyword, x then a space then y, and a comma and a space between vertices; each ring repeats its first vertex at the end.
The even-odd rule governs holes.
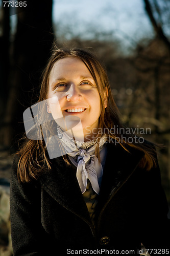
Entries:
POLYGON ((100 189, 100 209, 130 178, 144 155, 133 147, 129 147, 128 150, 129 152, 125 151, 119 144, 107 144, 108 153, 100 189))

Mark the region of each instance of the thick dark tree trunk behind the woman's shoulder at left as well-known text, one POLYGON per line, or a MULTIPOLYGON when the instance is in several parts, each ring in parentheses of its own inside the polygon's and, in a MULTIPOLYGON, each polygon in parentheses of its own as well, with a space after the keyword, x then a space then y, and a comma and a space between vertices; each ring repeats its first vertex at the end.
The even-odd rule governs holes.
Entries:
POLYGON ((54 40, 52 31, 52 0, 29 0, 17 14, 17 32, 13 42, 9 97, 2 130, 3 144, 10 146, 12 138, 24 132, 22 114, 38 99, 40 76, 50 57, 54 40), (24 10, 24 11, 23 11, 24 10))

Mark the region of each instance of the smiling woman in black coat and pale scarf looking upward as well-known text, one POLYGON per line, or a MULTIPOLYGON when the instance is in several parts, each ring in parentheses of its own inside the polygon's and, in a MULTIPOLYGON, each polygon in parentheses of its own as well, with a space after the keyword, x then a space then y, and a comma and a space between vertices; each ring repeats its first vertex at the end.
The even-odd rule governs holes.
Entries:
POLYGON ((168 208, 155 148, 126 134, 99 60, 54 49, 37 113, 11 176, 14 255, 137 255, 141 244, 163 253, 168 208))

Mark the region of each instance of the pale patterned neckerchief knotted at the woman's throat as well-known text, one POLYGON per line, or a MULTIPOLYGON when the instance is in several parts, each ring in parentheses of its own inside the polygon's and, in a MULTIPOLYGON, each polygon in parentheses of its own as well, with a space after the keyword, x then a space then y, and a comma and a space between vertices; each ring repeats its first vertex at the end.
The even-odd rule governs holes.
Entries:
POLYGON ((77 167, 77 179, 81 188, 82 194, 86 191, 87 179, 89 179, 91 186, 96 194, 99 195, 100 187, 98 183, 98 173, 103 174, 102 164, 99 163, 98 158, 95 157, 95 143, 99 143, 99 151, 105 146, 107 136, 103 135, 100 142, 97 140, 82 142, 74 141, 66 133, 64 133, 60 126, 58 126, 58 136, 65 148, 68 156, 70 156, 71 162, 77 167))

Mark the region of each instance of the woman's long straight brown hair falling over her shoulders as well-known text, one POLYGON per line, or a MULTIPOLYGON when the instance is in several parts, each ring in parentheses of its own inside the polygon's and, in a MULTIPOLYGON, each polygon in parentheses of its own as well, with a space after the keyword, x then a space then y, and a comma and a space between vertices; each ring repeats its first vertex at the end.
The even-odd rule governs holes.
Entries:
MULTIPOLYGON (((98 58, 89 50, 84 49, 58 49, 55 45, 52 50, 51 58, 49 59, 46 68, 42 74, 42 83, 40 88, 39 101, 47 99, 47 93, 49 89, 49 76, 52 71, 56 61, 65 58, 65 57, 77 57, 81 59, 88 70, 90 71, 101 99, 101 115, 99 118, 99 128, 105 131, 107 129, 108 136, 113 138, 116 141, 119 141, 119 144, 128 151, 128 147, 134 147, 137 150, 140 150, 144 153, 144 157, 140 161, 140 166, 145 167, 146 169, 151 169, 155 164, 154 153, 155 150, 152 146, 146 145, 145 143, 135 143, 128 142, 122 139, 122 134, 120 132, 121 128, 124 129, 124 125, 120 122, 119 111, 114 102, 109 80, 104 68, 101 65, 101 62, 98 58), (105 109, 104 101, 107 96, 107 108, 105 109), (111 132, 113 127, 114 133, 111 132)), ((99 130, 100 130, 99 129, 99 130)), ((101 134, 98 134, 96 137, 100 137, 101 134)), ((132 135, 124 134, 124 136, 132 137, 132 135)), ((99 157, 99 143, 96 143, 95 154, 99 157)), ((20 150, 18 151, 19 162, 18 162, 18 179, 20 182, 29 182, 33 179, 37 179, 40 174, 42 174, 44 168, 51 169, 50 160, 48 159, 45 143, 42 139, 32 140, 28 139, 25 136, 25 142, 22 144, 20 150)), ((68 163, 67 157, 63 156, 64 160, 68 163)), ((69 164, 69 163, 68 163, 69 164)))

